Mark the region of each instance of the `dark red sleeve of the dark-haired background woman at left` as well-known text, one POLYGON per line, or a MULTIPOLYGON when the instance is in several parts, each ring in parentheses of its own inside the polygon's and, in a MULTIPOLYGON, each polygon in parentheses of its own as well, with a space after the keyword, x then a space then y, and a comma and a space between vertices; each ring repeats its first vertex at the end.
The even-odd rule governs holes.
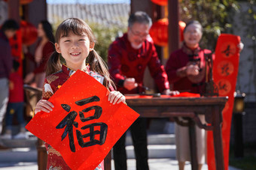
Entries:
POLYGON ((34 73, 42 73, 46 69, 46 64, 48 59, 50 58, 50 55, 54 52, 54 46, 53 43, 48 41, 43 48, 43 57, 41 60, 41 63, 38 67, 35 68, 34 73))

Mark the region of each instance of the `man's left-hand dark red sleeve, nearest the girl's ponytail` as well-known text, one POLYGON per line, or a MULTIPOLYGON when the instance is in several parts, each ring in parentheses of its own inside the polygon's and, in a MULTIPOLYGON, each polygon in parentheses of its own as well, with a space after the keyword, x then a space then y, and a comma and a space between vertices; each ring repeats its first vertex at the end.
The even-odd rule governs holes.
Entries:
POLYGON ((109 46, 108 49, 108 68, 111 78, 114 83, 120 86, 123 86, 123 81, 125 77, 122 75, 122 71, 120 69, 121 62, 120 58, 122 57, 122 53, 120 50, 120 46, 118 45, 117 40, 109 46))

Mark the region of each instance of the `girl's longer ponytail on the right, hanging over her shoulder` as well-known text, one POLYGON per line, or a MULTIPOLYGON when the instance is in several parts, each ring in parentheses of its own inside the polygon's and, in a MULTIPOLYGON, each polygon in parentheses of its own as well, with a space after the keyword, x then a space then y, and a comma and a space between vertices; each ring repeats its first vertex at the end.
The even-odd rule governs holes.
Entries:
POLYGON ((111 87, 115 88, 114 82, 110 79, 107 64, 105 64, 105 61, 103 61, 94 49, 87 57, 87 64, 90 65, 90 70, 100 73, 105 77, 103 85, 105 85, 108 90, 111 90, 111 87))

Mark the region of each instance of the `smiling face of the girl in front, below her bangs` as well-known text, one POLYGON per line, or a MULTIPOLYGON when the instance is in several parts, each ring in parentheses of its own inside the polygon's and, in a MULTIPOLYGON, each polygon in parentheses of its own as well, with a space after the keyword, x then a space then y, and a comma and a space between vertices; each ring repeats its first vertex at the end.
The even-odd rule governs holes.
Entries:
POLYGON ((69 31, 68 36, 60 37, 55 43, 56 52, 61 53, 66 65, 72 70, 81 70, 85 67, 85 60, 93 50, 94 43, 90 42, 87 34, 77 35, 69 31))

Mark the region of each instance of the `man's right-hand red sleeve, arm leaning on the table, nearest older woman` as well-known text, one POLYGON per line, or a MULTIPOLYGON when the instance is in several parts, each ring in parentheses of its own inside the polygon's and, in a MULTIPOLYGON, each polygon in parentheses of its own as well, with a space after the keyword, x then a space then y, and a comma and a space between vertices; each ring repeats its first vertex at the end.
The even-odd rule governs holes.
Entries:
POLYGON ((151 50, 148 55, 151 56, 151 59, 148 62, 148 68, 151 76, 157 84, 157 88, 160 92, 169 89, 166 71, 164 70, 163 65, 160 63, 160 59, 158 58, 157 51, 153 43, 151 43, 151 50))

